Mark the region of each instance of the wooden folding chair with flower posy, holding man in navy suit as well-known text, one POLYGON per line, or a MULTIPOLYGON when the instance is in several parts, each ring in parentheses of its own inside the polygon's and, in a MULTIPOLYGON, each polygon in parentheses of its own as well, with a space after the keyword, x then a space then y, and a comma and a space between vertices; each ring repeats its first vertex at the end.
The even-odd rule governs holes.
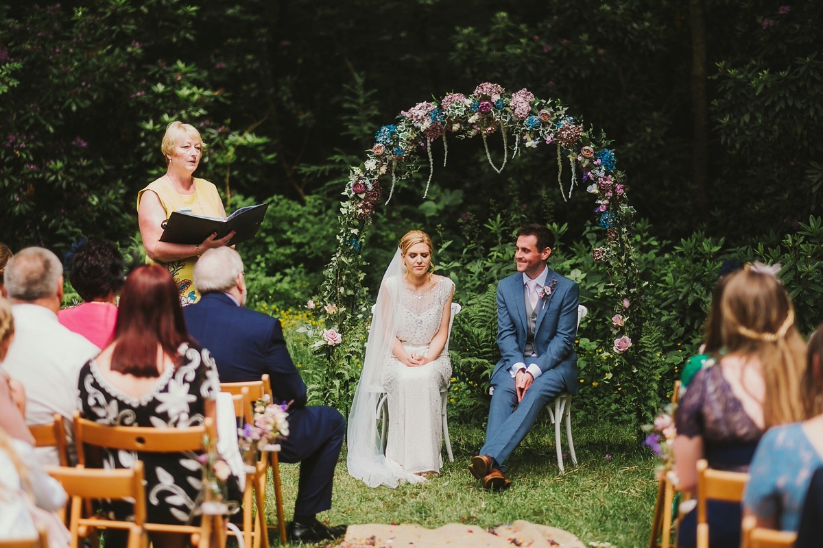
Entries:
MULTIPOLYGON (((230 394, 242 394, 243 389, 249 390, 249 401, 252 403, 258 399, 263 398, 267 394, 272 398, 272 384, 268 375, 263 375, 260 380, 252 380, 242 383, 221 383, 220 389, 222 392, 229 392, 230 394)), ((249 405, 249 408, 251 405, 249 405)), ((253 419, 250 417, 249 422, 253 419)), ((258 522, 260 525, 260 534, 255 533, 253 536, 254 548, 258 546, 268 546, 268 529, 266 523, 266 477, 267 468, 272 467, 272 476, 274 479, 274 497, 275 506, 277 509, 277 530, 280 533, 281 544, 286 544, 286 520, 283 518, 283 497, 280 484, 280 462, 278 460, 277 452, 264 455, 258 462, 258 470, 253 474, 252 482, 254 486, 254 501, 257 505, 257 513, 259 516, 258 522), (263 466, 260 464, 263 463, 263 466)), ((245 502, 244 502, 245 504, 245 502)), ((274 528, 274 527, 271 527, 274 528)))

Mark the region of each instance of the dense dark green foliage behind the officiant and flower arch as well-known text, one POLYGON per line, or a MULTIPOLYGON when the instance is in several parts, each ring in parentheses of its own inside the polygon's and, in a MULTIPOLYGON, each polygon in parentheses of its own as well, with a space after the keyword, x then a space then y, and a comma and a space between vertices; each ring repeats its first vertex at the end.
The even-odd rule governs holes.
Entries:
MULTIPOLYGON (((700 340, 723 260, 779 260, 804 333, 823 304, 823 4, 704 4, 708 184, 692 174, 686 2, 527 0, 506 12, 486 0, 4 3, 0 239, 61 253, 84 233, 138 255, 135 196, 162 173, 165 123, 184 119, 206 140, 198 175, 227 209, 272 201, 260 237, 239 246, 252 305, 302 307, 338 246, 348 168, 381 124, 481 81, 526 87, 614 140, 638 219, 648 219, 633 241, 644 325, 633 365, 613 366, 614 302, 602 301, 611 280, 591 257, 602 245, 591 197, 562 200, 548 150, 498 175, 476 142, 450 143, 425 200, 423 169, 374 214, 363 283, 374 290, 402 233, 436 234, 464 305, 453 412, 477 420, 495 361, 493 283, 512 270, 512 233, 524 219, 552 223, 561 243, 551 265, 580 283, 589 308, 575 406, 588 417, 648 415, 700 340)), ((499 165, 501 143, 490 145, 499 165)), ((333 384, 304 361, 315 386, 333 384)), ((345 366, 356 375, 356 361, 345 366)), ((336 389, 324 394, 345 408, 351 386, 336 389)))

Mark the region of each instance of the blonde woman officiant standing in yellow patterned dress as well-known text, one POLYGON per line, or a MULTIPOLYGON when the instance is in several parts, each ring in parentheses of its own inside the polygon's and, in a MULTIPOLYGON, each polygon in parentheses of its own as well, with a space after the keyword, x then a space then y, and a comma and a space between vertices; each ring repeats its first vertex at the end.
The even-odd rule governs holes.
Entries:
POLYGON ((217 187, 205 179, 194 177, 200 164, 203 141, 195 127, 182 122, 171 122, 165 128, 160 150, 167 165, 165 175, 137 193, 137 219, 140 236, 146 248, 146 264, 165 266, 174 277, 174 283, 183 306, 198 302, 200 294, 194 289, 194 263, 213 247, 226 246, 235 235, 207 237, 197 245, 160 242, 163 228, 160 223, 169 219, 172 211, 181 211, 205 217, 226 217, 226 210, 217 187))

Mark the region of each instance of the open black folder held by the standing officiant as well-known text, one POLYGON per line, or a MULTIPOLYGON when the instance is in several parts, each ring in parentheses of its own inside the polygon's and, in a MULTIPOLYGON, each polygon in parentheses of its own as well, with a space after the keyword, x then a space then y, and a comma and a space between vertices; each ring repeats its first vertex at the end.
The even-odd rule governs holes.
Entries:
POLYGON ((217 239, 220 239, 232 230, 235 236, 231 238, 230 245, 245 242, 257 233, 267 209, 268 203, 249 205, 241 207, 226 219, 172 211, 169 219, 161 225, 163 234, 160 242, 197 245, 213 233, 217 233, 217 239))

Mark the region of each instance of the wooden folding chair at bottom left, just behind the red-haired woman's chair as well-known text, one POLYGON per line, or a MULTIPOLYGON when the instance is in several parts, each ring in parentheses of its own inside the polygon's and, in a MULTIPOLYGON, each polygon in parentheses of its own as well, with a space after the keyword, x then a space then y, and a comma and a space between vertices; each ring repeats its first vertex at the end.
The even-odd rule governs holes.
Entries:
POLYGON ((128 531, 128 548, 147 548, 148 538, 143 528, 146 522, 146 487, 143 485, 143 463, 137 461, 126 470, 89 469, 83 465, 75 468, 49 467, 49 475, 60 482, 72 497, 69 532, 72 540, 69 548, 82 546, 80 539, 95 529, 125 529, 128 531), (120 522, 91 516, 81 517, 83 500, 126 499, 134 500, 134 521, 120 522))

